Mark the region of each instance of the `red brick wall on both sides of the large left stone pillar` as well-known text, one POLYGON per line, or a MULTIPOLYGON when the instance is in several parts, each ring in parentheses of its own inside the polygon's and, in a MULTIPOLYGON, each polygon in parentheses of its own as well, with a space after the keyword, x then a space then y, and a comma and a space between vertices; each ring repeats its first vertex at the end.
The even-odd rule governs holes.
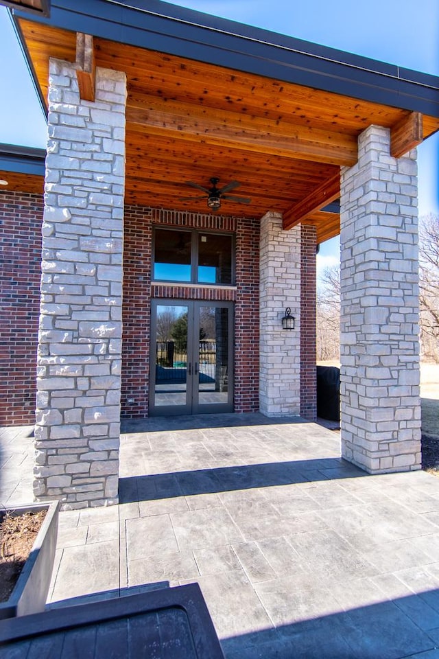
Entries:
MULTIPOLYGON (((1 192, 0 424, 33 424, 43 198, 1 192)), ((259 406, 259 222, 147 207, 125 209, 122 415, 146 417, 151 297, 235 302, 235 411, 259 406), (236 235, 236 288, 151 286, 154 224, 236 235), (128 403, 128 399, 132 402, 128 403)))

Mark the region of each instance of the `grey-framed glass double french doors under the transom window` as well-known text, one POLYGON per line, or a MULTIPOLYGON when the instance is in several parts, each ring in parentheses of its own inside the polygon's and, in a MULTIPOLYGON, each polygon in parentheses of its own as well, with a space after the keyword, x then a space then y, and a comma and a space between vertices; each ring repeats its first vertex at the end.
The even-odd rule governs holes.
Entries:
POLYGON ((233 411, 233 303, 152 301, 150 414, 233 411))

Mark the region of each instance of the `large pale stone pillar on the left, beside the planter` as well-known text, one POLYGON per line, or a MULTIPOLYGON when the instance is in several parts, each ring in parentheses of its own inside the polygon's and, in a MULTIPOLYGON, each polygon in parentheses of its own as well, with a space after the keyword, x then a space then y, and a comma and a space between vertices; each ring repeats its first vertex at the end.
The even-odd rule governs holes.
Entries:
POLYGON ((121 395, 124 73, 51 60, 34 494, 117 502, 121 395))

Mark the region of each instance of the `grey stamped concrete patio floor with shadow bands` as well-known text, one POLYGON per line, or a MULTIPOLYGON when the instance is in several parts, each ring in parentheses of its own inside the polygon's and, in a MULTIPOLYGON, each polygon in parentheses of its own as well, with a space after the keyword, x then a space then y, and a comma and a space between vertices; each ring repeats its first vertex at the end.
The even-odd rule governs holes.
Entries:
MULTIPOLYGON (((60 513, 49 606, 198 581, 228 659, 439 658, 439 479, 368 476, 300 420, 132 421, 118 506, 60 513)), ((0 502, 32 499, 30 428, 0 502)))

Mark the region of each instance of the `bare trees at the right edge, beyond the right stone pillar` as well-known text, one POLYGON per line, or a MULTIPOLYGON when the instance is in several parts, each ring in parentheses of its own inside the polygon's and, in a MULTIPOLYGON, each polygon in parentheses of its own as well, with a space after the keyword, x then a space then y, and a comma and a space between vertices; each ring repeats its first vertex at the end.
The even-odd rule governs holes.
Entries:
POLYGON ((423 358, 439 362, 439 216, 420 219, 420 340, 423 358))

